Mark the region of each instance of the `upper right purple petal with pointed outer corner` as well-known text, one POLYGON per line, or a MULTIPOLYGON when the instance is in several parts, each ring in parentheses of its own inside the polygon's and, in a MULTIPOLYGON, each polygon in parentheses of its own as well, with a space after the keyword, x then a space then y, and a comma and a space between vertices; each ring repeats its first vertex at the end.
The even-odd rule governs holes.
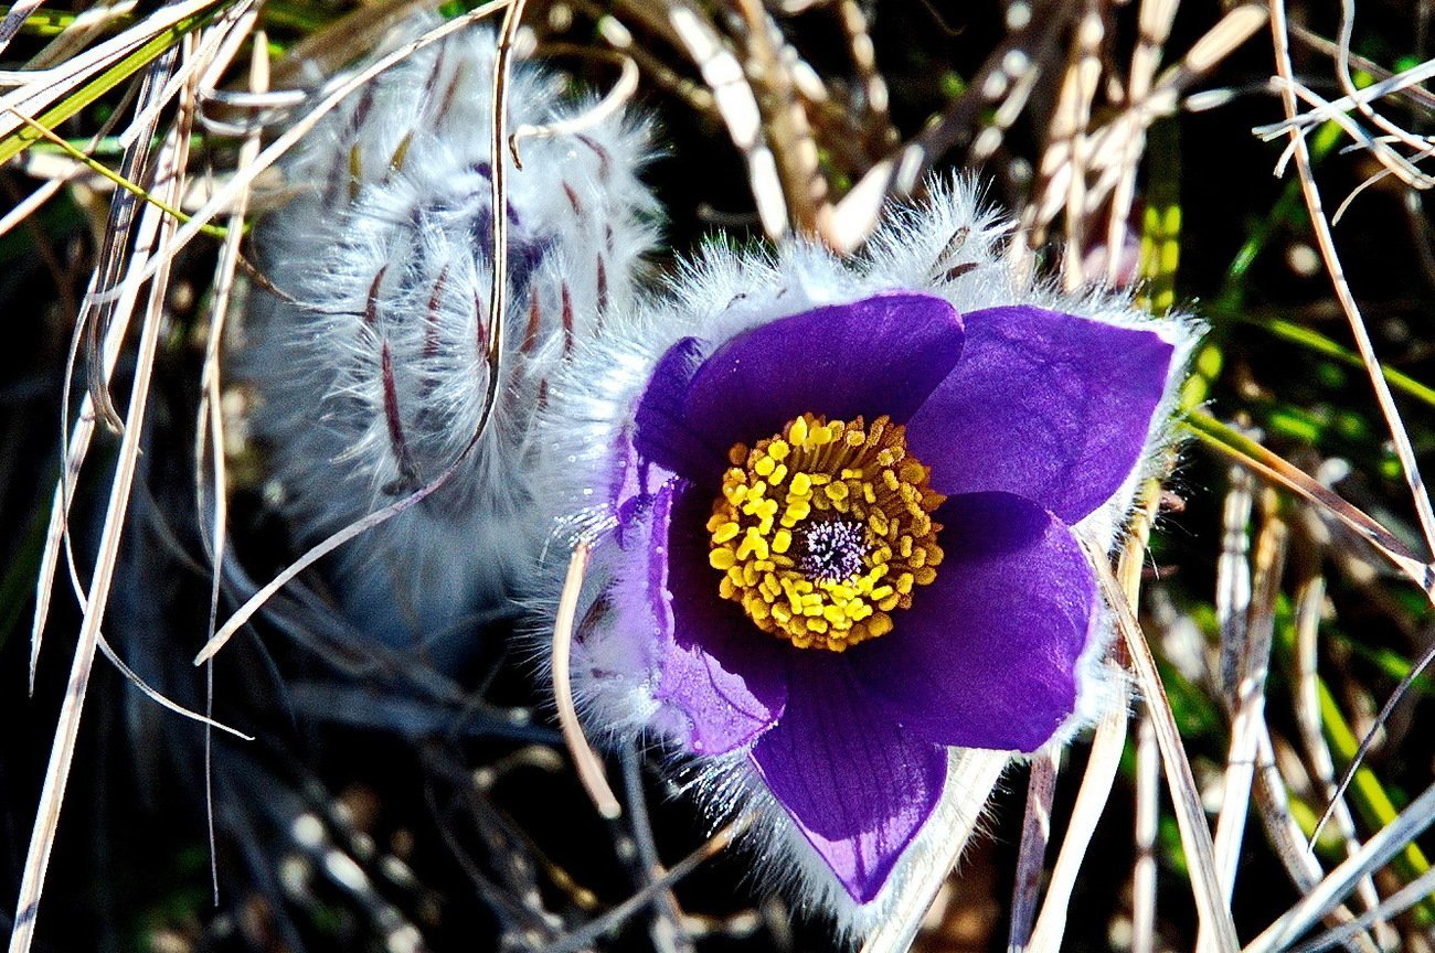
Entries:
POLYGON ((1025 305, 964 317, 961 363, 913 414, 911 451, 940 493, 1004 490, 1078 522, 1139 461, 1174 348, 1025 305))

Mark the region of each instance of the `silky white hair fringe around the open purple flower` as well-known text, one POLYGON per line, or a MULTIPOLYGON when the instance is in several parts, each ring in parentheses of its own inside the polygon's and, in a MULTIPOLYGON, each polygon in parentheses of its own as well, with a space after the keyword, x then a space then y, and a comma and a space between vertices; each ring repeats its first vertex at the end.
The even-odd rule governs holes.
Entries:
MULTIPOLYGON (((1055 284, 1023 279, 1007 254, 1010 225, 983 208, 969 179, 937 181, 918 206, 893 206, 862 255, 838 258, 828 251, 789 239, 776 251, 735 249, 722 241, 670 281, 663 295, 614 314, 554 378, 550 403, 540 418, 541 502, 552 516, 552 539, 542 576, 557 592, 564 542, 588 540, 593 568, 584 585, 578 619, 587 618, 573 649, 571 676, 584 722, 607 742, 647 744, 663 752, 686 790, 716 827, 733 818, 751 821, 745 841, 756 857, 755 870, 775 883, 794 907, 829 917, 848 940, 858 940, 893 916, 914 884, 930 878, 931 864, 949 863, 979 818, 999 771, 999 761, 1020 758, 951 750, 949 777, 938 804, 905 848, 893 874, 870 903, 855 903, 827 863, 758 775, 746 751, 723 757, 695 757, 680 748, 672 712, 654 695, 650 645, 651 621, 634 621, 608 603, 604 592, 641 559, 618 550, 608 530, 610 480, 614 454, 633 426, 637 401, 659 357, 683 337, 720 345, 746 330, 819 305, 851 302, 883 291, 923 291, 951 302, 959 312, 999 305, 1036 305, 1121 327, 1157 332, 1175 348, 1165 394, 1152 418, 1145 453, 1122 487, 1076 530, 1109 549, 1121 542, 1139 483, 1164 467, 1164 450, 1174 440, 1170 418, 1185 364, 1201 327, 1190 317, 1152 318, 1138 311, 1126 294, 1092 289, 1063 294, 1055 284)), ((646 553, 644 553, 646 555, 646 553)), ((1106 659, 1111 625, 1102 615, 1078 664, 1078 705, 1050 745, 1066 744, 1078 731, 1114 707, 1125 704, 1122 675, 1106 659)))

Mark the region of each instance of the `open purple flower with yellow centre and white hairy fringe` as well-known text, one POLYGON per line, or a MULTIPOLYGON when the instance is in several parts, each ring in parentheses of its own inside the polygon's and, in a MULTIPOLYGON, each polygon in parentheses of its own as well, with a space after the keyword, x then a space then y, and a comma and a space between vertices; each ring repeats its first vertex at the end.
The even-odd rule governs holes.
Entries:
POLYGON ((716 810, 781 808, 769 844, 850 924, 973 797, 954 752, 1035 752, 1109 699, 1073 527, 1114 542, 1191 343, 1020 287, 999 232, 956 186, 855 262, 710 252, 550 431, 606 474, 564 497, 606 499, 578 513, 590 724, 689 755, 716 810))

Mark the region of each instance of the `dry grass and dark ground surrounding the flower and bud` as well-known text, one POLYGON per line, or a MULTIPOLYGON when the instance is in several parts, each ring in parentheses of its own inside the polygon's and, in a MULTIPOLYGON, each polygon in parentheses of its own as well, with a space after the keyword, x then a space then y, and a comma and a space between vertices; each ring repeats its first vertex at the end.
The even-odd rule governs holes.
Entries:
MULTIPOLYGON (((241 232, 284 196, 257 149, 313 105, 288 90, 363 62, 419 9, 0 9, 0 312, 14 334, 0 350, 0 924, 17 909, 27 919, 32 827, 57 804, 42 795, 52 745, 75 738, 36 950, 829 949, 821 921, 768 896, 742 853, 705 847, 710 831, 640 754, 610 760, 627 810, 598 815, 505 623, 475 625, 465 671, 429 671, 356 642, 310 572, 212 672, 191 665, 212 612, 222 621, 298 556, 245 439, 247 396, 224 385, 215 344, 243 322, 255 279, 241 232), (207 206, 237 169, 257 173, 235 188, 245 205, 207 206), (197 211, 212 222, 182 248, 146 241, 197 211), (145 268, 155 274, 136 297, 86 298, 92 281, 113 288, 145 268), (136 381, 145 427, 126 447, 118 424, 133 424, 136 381), (205 394, 222 423, 205 434, 222 437, 225 464, 218 573, 218 461, 195 451, 205 394), (93 440, 60 494, 62 545, 60 434, 85 421, 93 440), (112 487, 128 464, 121 514, 112 487), (112 572, 95 573, 110 549, 112 572), (255 739, 207 735, 103 655, 77 732, 57 729, 66 699, 76 709, 76 635, 96 632, 70 559, 85 590, 106 593, 106 655, 191 709, 205 709, 212 678, 214 717, 255 739), (40 590, 32 694, 37 579, 53 589, 40 590), (673 877, 654 873, 653 851, 673 877)), ((442 13, 468 10, 453 0, 442 13)), ((1435 780, 1435 684, 1415 678, 1378 719, 1435 645, 1435 526, 1408 479, 1435 449, 1435 242, 1421 172, 1432 10, 1363 0, 1343 20, 1342 4, 1314 0, 534 0, 522 16, 522 43, 575 89, 621 90, 636 69, 629 107, 666 143, 647 172, 667 211, 654 275, 718 231, 855 248, 883 201, 961 169, 1013 211, 1032 268, 1132 285, 1152 310, 1180 305, 1210 324, 1185 396, 1190 440, 1151 497, 1151 553, 1125 569, 1139 575, 1142 631, 1200 808, 1213 830, 1244 831, 1224 854, 1218 837, 1217 858, 1238 871, 1228 910, 1254 949, 1317 949, 1300 944, 1356 917, 1349 949, 1435 949, 1435 843, 1399 818, 1435 780), (1253 129, 1393 75, 1409 82, 1303 120, 1309 161, 1271 175, 1290 135, 1253 129), (1313 195, 1325 216, 1340 209, 1330 248, 1313 195), (1366 735, 1365 767, 1306 851, 1366 735), (1313 932, 1260 939, 1382 831, 1393 860, 1362 867, 1369 876, 1313 932), (1391 897, 1399 910, 1365 917, 1391 897)), ((1137 705, 1106 744, 1119 752, 1109 795, 1085 744, 1059 770, 1006 775, 920 949, 1195 949, 1181 795, 1159 781, 1149 711, 1137 705), (1083 778, 1095 800, 1078 807, 1083 778), (1023 853, 1043 791, 1050 843, 1027 840, 1023 853), (1089 844, 1068 838, 1085 824, 1089 844), (1062 883, 1052 870, 1063 846, 1066 863, 1082 858, 1069 904, 1038 891, 1062 883)))

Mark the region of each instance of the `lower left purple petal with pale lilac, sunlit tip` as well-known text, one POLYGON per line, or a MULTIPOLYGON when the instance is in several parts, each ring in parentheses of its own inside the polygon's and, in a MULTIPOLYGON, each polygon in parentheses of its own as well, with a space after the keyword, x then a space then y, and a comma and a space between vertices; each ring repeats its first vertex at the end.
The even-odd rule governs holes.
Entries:
POLYGON ((725 754, 772 727, 786 704, 786 646, 718 595, 703 533, 706 493, 670 492, 653 504, 647 593, 659 623, 654 698, 689 750, 725 754), (702 537, 697 537, 702 533, 702 537))

